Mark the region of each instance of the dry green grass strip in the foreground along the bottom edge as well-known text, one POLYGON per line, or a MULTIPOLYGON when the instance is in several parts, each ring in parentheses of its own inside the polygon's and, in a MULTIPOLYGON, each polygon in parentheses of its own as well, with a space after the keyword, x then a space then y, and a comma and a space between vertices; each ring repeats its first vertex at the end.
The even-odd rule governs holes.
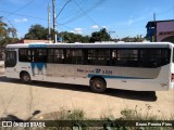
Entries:
MULTIPOLYGON (((160 122, 158 120, 174 120, 174 115, 170 118, 159 117, 150 113, 151 106, 147 104, 147 113, 142 114, 137 106, 134 109, 125 108, 121 112, 121 117, 115 118, 113 115, 102 114, 100 119, 91 119, 85 116, 83 109, 65 110, 61 109, 58 115, 52 114, 53 121, 47 126, 57 127, 57 130, 173 130, 173 127, 141 127, 135 126, 137 122, 160 122)), ((52 127, 46 128, 52 130, 52 127)))

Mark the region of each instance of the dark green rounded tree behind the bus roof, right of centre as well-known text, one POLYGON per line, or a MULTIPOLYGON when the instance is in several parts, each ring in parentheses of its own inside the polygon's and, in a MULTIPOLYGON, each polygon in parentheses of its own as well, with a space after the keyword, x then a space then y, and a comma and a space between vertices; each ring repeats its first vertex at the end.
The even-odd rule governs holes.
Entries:
POLYGON ((110 41, 110 40, 111 40, 111 36, 107 32, 105 28, 102 28, 99 31, 92 32, 90 37, 90 42, 110 41))

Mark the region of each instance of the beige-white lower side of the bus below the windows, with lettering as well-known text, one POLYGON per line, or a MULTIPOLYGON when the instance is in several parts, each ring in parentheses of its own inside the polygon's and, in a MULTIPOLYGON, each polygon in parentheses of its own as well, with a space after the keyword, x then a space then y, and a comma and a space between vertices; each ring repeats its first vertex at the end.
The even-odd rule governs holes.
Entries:
POLYGON ((18 78, 21 72, 27 72, 30 75, 32 80, 85 86, 89 86, 89 80, 91 77, 102 77, 107 81, 108 88, 136 91, 167 90, 167 87, 170 86, 169 73, 166 72, 166 69, 170 69, 170 65, 162 66, 160 68, 125 68, 110 66, 47 64, 47 68, 44 67, 41 70, 38 70, 37 67, 33 69, 32 65, 28 65, 28 63, 18 63, 15 68, 17 70, 15 75, 7 76, 11 78, 18 78), (103 74, 105 72, 112 74, 103 74), (149 76, 151 79, 148 79, 149 77, 147 77, 148 74, 146 74, 146 72, 150 72, 151 74, 154 74, 156 72, 156 80, 151 78, 152 76, 150 76, 150 74, 149 76))

